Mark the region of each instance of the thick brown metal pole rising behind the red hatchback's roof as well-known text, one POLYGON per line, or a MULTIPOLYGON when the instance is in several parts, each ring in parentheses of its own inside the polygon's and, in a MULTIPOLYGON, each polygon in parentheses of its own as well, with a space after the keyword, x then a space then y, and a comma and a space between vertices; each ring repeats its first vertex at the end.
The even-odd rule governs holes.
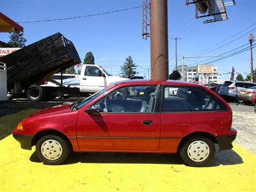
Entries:
POLYGON ((150 0, 150 56, 152 81, 168 79, 167 0, 150 0))

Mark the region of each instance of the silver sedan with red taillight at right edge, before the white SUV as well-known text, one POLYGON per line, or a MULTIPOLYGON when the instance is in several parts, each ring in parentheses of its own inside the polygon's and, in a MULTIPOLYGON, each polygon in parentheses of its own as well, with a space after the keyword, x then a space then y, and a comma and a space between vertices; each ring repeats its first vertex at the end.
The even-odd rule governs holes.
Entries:
POLYGON ((242 100, 244 104, 253 104, 253 98, 256 95, 256 86, 250 88, 241 88, 237 92, 237 99, 242 100))

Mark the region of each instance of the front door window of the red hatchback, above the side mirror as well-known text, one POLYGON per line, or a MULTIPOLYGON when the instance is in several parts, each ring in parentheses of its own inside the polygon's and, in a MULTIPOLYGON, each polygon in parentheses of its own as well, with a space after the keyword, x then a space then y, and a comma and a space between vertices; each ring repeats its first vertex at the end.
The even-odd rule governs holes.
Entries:
POLYGON ((104 113, 153 113, 157 86, 126 86, 109 93, 91 108, 104 113))

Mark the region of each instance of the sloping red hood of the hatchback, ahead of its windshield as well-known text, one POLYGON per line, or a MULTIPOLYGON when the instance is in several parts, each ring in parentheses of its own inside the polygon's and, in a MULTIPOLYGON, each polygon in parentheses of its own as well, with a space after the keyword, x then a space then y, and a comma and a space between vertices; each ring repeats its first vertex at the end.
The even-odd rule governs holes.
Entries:
POLYGON ((70 109, 70 105, 72 103, 65 103, 58 106, 54 106, 52 108, 43 109, 41 111, 38 111, 36 113, 33 113, 32 115, 29 115, 28 118, 34 118, 38 116, 52 116, 52 115, 60 115, 64 113, 72 113, 72 109, 70 109))

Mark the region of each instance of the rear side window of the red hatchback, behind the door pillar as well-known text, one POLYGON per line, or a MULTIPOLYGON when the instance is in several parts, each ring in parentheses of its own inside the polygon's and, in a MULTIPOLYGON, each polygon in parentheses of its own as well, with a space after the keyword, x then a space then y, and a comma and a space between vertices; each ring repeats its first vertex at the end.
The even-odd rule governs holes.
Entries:
POLYGON ((227 110, 221 100, 204 88, 165 86, 163 90, 163 112, 227 110))

